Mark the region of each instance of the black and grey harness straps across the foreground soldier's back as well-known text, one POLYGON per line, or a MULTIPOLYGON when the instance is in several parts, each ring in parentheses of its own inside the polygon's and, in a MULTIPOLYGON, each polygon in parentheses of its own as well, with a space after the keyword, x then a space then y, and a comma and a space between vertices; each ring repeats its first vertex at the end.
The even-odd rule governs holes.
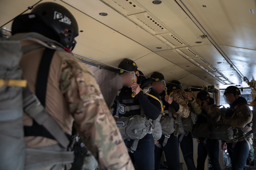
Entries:
MULTIPOLYGON (((56 50, 46 48, 37 74, 36 81, 36 95, 30 92, 28 88, 23 91, 24 111, 33 118, 34 122, 39 124, 43 131, 50 133, 55 140, 57 140, 62 147, 67 148, 69 140, 58 123, 51 117, 51 115, 44 109, 48 75, 52 57, 56 50)), ((34 124, 34 123, 33 123, 34 124)), ((33 128, 33 125, 32 125, 33 128)), ((26 129, 26 126, 24 130, 26 129)), ((37 130, 38 129, 34 129, 37 130)), ((26 130, 25 130, 26 133, 26 130)), ((41 133, 41 132, 38 132, 41 133)), ((42 132, 44 133, 44 132, 42 132)), ((25 135, 26 136, 26 135, 25 135)), ((40 135, 44 136, 44 135, 40 135)))

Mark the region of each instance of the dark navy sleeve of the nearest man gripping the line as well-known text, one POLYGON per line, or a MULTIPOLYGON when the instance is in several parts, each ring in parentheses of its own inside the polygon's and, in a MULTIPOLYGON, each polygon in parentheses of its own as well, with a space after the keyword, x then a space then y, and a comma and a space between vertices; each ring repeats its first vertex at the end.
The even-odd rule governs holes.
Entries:
MULTIPOLYGON (((153 91, 153 90, 151 90, 151 91, 153 91)), ((160 100, 159 94, 156 94, 154 92, 150 93, 150 94, 155 96, 156 98, 158 98, 160 100)), ((136 95, 136 97, 140 101, 145 115, 148 116, 152 120, 156 120, 157 117, 161 113, 161 104, 160 104, 160 102, 158 100, 150 97, 150 96, 147 97, 146 95, 143 94, 142 91, 140 91, 136 95)))

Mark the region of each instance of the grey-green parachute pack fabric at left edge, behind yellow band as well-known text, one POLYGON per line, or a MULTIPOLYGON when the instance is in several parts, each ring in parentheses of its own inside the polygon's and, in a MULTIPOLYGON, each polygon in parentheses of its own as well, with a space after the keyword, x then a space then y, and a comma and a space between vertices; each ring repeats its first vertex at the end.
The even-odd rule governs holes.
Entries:
MULTIPOLYGON (((0 30, 1 31, 1 30, 0 30)), ((0 39, 0 79, 21 80, 22 57, 19 41, 0 39)), ((0 169, 23 169, 25 164, 25 142, 23 132, 22 87, 0 85, 0 169)))

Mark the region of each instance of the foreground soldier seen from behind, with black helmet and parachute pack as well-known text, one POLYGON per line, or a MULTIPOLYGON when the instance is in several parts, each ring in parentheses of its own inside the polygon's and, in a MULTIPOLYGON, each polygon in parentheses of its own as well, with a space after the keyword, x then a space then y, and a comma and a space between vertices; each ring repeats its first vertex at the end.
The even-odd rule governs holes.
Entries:
POLYGON ((4 69, 0 79, 4 85, 0 86, 0 169, 77 169, 70 167, 74 161, 74 152, 69 151, 74 147, 69 143, 73 122, 93 155, 87 157, 89 152, 84 155, 80 169, 95 169, 97 161, 102 169, 134 169, 93 73, 70 53, 78 36, 73 15, 56 3, 41 3, 30 14, 15 18, 12 33, 10 40, 5 43, 1 40, 4 69), (23 53, 18 48, 20 42, 23 53), (13 51, 7 54, 10 46, 13 51), (22 56, 20 62, 14 54, 22 56), (14 64, 17 64, 15 69, 14 64), (26 81, 7 81, 21 78, 15 78, 21 73, 19 65, 28 86, 23 91, 23 106, 19 87, 26 87, 26 81), (4 97, 6 100, 2 100, 4 97), (10 126, 13 122, 15 127, 10 126), (18 129, 16 137, 12 133, 18 129))

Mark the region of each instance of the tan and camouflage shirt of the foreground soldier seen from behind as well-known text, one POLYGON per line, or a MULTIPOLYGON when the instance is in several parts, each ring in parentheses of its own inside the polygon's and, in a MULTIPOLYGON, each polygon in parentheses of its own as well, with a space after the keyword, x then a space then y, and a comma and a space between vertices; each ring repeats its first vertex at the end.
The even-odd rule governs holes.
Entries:
MULTIPOLYGON (((21 35, 16 34, 13 38, 21 35)), ((22 46, 30 44, 34 42, 22 42, 22 46)), ((35 93, 37 70, 44 49, 42 47, 32 50, 23 55, 20 60, 23 77, 28 81, 28 88, 32 93, 35 93)), ((56 50, 52 58, 45 109, 69 135, 71 135, 74 121, 77 132, 102 169, 134 169, 93 73, 71 53, 64 50, 56 50)), ((32 119, 26 113, 24 113, 23 121, 25 126, 33 124, 32 119)), ((26 136, 25 142, 26 147, 31 148, 41 148, 58 143, 56 140, 42 136, 26 136)))

